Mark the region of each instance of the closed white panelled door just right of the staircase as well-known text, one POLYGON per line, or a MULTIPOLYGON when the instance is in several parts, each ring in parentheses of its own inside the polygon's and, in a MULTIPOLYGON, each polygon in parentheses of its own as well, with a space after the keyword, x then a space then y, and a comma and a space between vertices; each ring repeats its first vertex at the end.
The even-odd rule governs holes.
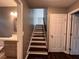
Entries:
POLYGON ((49 51, 65 50, 67 14, 51 14, 49 24, 49 51))

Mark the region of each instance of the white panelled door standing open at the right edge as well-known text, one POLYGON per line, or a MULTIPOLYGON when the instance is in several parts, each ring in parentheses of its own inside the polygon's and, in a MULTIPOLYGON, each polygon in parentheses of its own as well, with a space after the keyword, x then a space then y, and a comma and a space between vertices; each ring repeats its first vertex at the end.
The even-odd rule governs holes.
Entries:
POLYGON ((79 55, 79 15, 72 16, 72 36, 70 54, 79 55))

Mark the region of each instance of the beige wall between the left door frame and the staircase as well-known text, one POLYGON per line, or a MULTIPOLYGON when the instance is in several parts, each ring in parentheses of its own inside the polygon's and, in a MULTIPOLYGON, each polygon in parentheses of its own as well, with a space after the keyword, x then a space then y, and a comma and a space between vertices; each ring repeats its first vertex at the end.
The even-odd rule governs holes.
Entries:
POLYGON ((25 58, 29 41, 32 35, 33 20, 32 20, 32 10, 28 7, 27 3, 23 1, 23 30, 24 30, 24 39, 23 39, 23 56, 25 58))

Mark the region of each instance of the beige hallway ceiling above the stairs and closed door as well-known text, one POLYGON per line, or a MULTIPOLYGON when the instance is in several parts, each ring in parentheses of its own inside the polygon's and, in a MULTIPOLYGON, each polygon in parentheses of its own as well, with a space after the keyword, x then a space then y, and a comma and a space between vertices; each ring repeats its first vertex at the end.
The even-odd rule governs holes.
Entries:
POLYGON ((30 7, 69 7, 77 0, 28 0, 30 7))

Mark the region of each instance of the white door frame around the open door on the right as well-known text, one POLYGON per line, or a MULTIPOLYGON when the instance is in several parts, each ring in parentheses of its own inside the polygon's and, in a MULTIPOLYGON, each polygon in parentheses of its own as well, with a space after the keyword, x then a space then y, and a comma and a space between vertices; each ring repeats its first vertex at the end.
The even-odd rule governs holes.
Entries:
POLYGON ((72 14, 73 13, 76 13, 79 11, 79 8, 71 11, 71 12, 68 12, 68 26, 67 26, 67 46, 66 46, 66 51, 65 53, 67 54, 70 54, 70 50, 71 50, 71 30, 72 30, 72 14))

